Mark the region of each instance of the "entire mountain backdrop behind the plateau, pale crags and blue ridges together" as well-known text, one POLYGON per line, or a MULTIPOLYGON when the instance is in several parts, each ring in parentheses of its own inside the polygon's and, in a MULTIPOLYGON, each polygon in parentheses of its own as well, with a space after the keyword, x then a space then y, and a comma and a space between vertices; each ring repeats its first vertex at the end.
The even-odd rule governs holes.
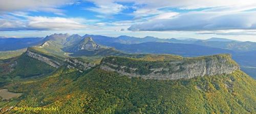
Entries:
POLYGON ((251 71, 256 71, 255 42, 242 42, 225 38, 209 38, 206 40, 194 38, 170 38, 161 39, 152 36, 144 38, 119 36, 108 37, 102 35, 80 36, 77 34, 52 34, 45 38, 1 38, 0 51, 34 49, 55 56, 107 56, 130 54, 176 54, 186 57, 230 53, 233 59, 241 64, 242 69, 249 71, 251 76, 256 77, 251 71), (90 39, 87 39, 90 38, 90 39), (41 44, 41 45, 40 45, 41 44), (93 48, 95 50, 91 50, 93 48), (90 49, 90 50, 88 50, 90 49))

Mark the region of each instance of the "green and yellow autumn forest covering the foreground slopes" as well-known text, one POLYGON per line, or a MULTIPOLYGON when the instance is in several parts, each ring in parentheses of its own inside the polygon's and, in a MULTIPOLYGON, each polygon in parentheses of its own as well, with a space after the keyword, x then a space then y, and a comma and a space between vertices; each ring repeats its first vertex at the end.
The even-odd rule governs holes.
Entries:
MULTIPOLYGON (((182 80, 120 76, 96 67, 83 73, 60 67, 47 78, 7 87, 23 93, 1 107, 58 107, 50 113, 255 113, 255 80, 241 71, 182 80)), ((19 111, 10 113, 49 113, 19 111)))

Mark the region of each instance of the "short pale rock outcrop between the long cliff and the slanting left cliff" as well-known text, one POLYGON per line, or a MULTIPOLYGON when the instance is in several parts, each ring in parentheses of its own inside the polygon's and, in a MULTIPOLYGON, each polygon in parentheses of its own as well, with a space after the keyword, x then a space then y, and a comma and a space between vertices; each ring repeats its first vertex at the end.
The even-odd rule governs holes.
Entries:
POLYGON ((79 70, 88 70, 95 66, 94 63, 83 61, 82 59, 79 60, 79 58, 66 58, 66 63, 68 64, 68 68, 77 68, 79 70))

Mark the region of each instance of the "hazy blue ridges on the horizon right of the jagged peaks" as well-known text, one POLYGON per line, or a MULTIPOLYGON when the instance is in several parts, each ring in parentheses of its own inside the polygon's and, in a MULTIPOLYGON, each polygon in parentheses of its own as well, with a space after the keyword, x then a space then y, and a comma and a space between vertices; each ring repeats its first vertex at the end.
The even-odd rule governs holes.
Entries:
POLYGON ((119 36, 117 38, 107 37, 101 35, 84 35, 83 37, 92 37, 95 42, 103 45, 110 45, 111 43, 122 43, 122 44, 137 44, 143 42, 169 42, 169 43, 185 43, 185 44, 196 44, 203 45, 212 48, 221 48, 226 50, 232 50, 235 52, 246 52, 256 50, 256 42, 250 41, 237 41, 225 38, 210 38, 206 40, 184 38, 184 39, 161 39, 156 37, 147 36, 144 38, 130 37, 130 36, 119 36), (103 39, 103 40, 102 40, 103 39))

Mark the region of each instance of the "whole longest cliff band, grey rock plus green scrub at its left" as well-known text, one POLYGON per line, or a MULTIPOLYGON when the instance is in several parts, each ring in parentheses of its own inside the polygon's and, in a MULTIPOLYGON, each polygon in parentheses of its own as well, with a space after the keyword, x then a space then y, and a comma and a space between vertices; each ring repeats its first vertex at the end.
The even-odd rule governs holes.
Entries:
POLYGON ((130 77, 144 79, 181 79, 198 76, 231 74, 240 66, 231 59, 231 55, 181 58, 168 61, 145 61, 134 58, 106 57, 100 68, 115 71, 130 77))

